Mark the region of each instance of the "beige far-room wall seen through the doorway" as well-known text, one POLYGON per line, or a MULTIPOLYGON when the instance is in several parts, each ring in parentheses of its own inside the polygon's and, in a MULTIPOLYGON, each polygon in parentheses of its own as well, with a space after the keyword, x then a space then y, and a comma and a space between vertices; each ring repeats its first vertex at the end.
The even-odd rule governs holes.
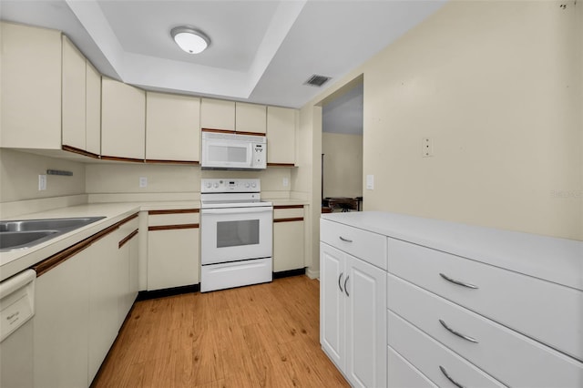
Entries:
POLYGON ((363 195, 363 137, 322 133, 323 188, 325 197, 363 195))

